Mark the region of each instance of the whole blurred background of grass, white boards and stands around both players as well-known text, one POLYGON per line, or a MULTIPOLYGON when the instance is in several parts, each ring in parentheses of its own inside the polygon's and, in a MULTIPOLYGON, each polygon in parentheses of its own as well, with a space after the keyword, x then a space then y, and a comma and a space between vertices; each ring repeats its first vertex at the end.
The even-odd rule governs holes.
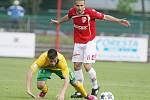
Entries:
MULTIPOLYGON (((25 92, 26 72, 49 48, 64 54, 73 69, 72 20, 60 26, 50 24, 51 19, 67 14, 73 1, 0 0, 0 100, 33 100, 25 92)), ((150 0, 86 0, 86 5, 131 23, 124 27, 96 21, 98 55, 94 69, 100 92, 111 91, 115 100, 150 100, 150 0)), ((83 72, 90 92, 88 74, 83 72)), ((53 79, 43 100, 55 100, 62 87, 55 75, 53 79)), ((33 81, 33 93, 37 94, 36 76, 33 81)), ((74 89, 69 87, 67 100, 72 100, 72 93, 74 89)))

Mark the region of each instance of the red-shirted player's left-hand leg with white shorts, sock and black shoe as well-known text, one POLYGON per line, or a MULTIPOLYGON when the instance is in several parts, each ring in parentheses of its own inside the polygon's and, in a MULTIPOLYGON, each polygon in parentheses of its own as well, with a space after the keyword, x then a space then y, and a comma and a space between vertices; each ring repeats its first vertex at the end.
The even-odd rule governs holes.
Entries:
MULTIPOLYGON (((83 61, 83 46, 81 44, 74 45, 73 57, 72 62, 74 62, 74 73, 75 78, 77 81, 80 81, 82 84, 84 82, 84 76, 82 72, 82 61, 83 61)), ((81 93, 76 91, 74 94, 71 95, 71 98, 74 97, 82 97, 81 93)))

